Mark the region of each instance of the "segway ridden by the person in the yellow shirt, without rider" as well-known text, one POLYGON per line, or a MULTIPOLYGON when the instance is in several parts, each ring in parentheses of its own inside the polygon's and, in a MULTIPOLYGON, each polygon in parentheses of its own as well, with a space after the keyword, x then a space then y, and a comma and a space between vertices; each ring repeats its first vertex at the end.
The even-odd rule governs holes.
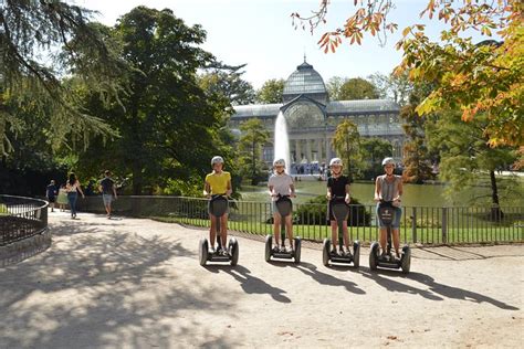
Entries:
POLYGON ((226 262, 231 265, 237 265, 239 262, 239 243, 237 239, 229 239, 228 247, 226 242, 222 242, 220 236, 220 218, 228 211, 228 198, 226 195, 212 195, 210 199, 209 211, 217 218, 217 250, 209 250, 209 243, 206 237, 200 240, 199 257, 200 265, 206 265, 209 262, 226 262))

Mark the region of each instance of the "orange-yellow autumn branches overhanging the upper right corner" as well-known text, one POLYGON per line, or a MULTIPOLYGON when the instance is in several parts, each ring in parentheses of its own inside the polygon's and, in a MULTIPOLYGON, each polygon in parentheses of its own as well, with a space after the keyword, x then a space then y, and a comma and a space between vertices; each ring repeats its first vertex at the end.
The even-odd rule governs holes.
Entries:
MULTIPOLYGON (((438 110, 461 108, 461 119, 471 121, 485 114, 485 133, 491 146, 524 142, 524 35, 522 17, 524 2, 427 0, 421 15, 430 20, 438 17, 448 29, 440 34, 441 42, 432 42, 423 24, 415 23, 402 30, 397 47, 404 59, 397 74, 409 71, 413 82, 432 82, 433 92, 417 107, 420 115, 438 110), (459 1, 457 1, 459 2, 459 1), (491 39, 496 33, 501 41, 486 40, 474 43, 461 38, 467 31, 476 31, 491 39)), ((356 11, 342 28, 326 32, 319 40, 324 52, 336 51, 346 38, 350 44, 360 44, 365 33, 384 40, 386 33, 398 25, 389 21, 392 0, 355 0, 356 11)), ((324 23, 329 1, 322 1, 318 11, 303 18, 293 13, 294 20, 311 23, 312 31, 324 23)), ((305 24, 303 24, 305 27, 305 24)))

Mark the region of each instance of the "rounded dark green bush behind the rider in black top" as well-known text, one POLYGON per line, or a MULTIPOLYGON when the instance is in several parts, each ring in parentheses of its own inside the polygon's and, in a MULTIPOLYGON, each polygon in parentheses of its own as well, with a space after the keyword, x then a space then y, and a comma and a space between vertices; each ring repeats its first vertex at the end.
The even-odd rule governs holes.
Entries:
MULTIPOLYGON (((350 226, 368 226, 371 222, 371 214, 366 211, 366 207, 352 198, 349 216, 347 225, 350 226)), ((327 198, 318 195, 302 204, 293 212, 293 222, 296 224, 325 224, 329 225, 327 218, 327 198)))

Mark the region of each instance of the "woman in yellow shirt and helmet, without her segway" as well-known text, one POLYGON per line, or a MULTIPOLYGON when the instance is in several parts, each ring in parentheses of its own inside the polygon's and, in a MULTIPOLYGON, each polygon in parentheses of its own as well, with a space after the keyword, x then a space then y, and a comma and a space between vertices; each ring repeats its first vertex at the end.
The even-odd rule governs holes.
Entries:
MULTIPOLYGON (((223 170, 223 158, 213 157, 211 159, 211 167, 213 171, 206 176, 206 183, 203 189, 203 194, 207 198, 211 195, 226 195, 229 197, 233 192, 231 189, 231 174, 223 170)), ((211 248, 214 250, 214 240, 216 240, 216 230, 217 230, 217 216, 211 214, 209 211, 209 220, 211 221, 211 226, 209 229, 209 240, 211 241, 211 248)), ((222 254, 227 254, 226 243, 228 241, 228 212, 226 212, 220 219, 220 240, 222 241, 222 254)), ((220 251, 219 251, 220 252, 220 251)))

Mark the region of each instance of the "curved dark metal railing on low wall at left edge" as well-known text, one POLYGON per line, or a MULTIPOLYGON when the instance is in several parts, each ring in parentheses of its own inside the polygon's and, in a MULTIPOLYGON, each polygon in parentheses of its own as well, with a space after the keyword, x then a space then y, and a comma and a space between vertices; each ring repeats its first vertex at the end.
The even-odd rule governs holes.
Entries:
POLYGON ((0 194, 0 246, 45 232, 48 205, 44 200, 0 194))

